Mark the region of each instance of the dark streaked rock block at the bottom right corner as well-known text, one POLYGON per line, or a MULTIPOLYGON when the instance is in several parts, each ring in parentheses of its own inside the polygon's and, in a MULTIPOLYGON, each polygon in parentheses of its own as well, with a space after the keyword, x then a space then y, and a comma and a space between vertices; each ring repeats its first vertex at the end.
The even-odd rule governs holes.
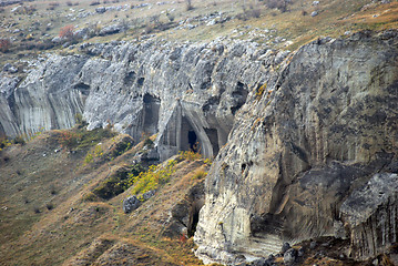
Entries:
POLYGON ((398 241, 398 175, 376 174, 340 207, 350 232, 351 256, 366 259, 398 241))

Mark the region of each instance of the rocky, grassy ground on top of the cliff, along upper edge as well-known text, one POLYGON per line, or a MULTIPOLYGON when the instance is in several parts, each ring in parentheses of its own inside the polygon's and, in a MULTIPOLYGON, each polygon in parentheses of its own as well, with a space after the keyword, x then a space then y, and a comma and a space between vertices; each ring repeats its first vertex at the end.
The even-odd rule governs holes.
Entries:
POLYGON ((228 38, 295 50, 319 35, 397 27, 396 1, 299 0, 283 9, 268 2, 192 1, 188 9, 186 1, 4 1, 1 66, 3 73, 23 75, 45 53, 75 53, 85 42, 228 38))

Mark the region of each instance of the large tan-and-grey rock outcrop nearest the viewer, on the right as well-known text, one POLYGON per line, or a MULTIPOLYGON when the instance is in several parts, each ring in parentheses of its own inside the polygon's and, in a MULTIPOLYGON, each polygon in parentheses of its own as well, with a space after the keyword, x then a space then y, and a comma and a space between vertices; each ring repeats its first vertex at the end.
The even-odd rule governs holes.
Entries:
MULTIPOLYGON (((315 41, 247 96, 206 180, 197 256, 234 264, 236 254, 267 257, 286 241, 334 235, 353 191, 375 173, 397 172, 397 43, 394 31, 315 41)), ((389 198, 382 206, 396 225, 389 198)), ((360 234, 373 217, 348 223, 353 250, 367 249, 360 258, 373 254, 359 239, 370 237, 360 234)))

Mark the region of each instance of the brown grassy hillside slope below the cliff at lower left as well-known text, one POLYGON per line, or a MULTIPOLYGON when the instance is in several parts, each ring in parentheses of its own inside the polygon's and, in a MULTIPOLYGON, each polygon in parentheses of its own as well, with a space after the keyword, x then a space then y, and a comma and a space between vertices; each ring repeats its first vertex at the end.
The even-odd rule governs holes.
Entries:
MULTIPOLYGON (((1 265, 201 265, 186 226, 197 201, 192 195, 201 196, 196 191, 208 168, 203 160, 176 158, 170 182, 124 214, 121 201, 133 187, 110 200, 93 192, 142 157, 143 142, 88 164, 88 151, 99 145, 70 152, 60 146, 62 133, 42 133, 1 153, 1 265), (178 218, 172 214, 176 206, 178 218)), ((106 153, 123 140, 98 142, 106 153)))

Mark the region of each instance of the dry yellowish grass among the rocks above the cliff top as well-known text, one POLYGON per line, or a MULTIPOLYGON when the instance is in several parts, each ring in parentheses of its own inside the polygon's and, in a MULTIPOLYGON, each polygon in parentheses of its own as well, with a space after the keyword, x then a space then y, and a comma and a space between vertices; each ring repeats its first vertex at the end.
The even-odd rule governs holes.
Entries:
MULTIPOLYGON (((89 25, 98 25, 99 28, 119 23, 125 21, 131 24, 131 29, 125 33, 118 33, 106 37, 94 37, 86 41, 89 42, 108 42, 112 40, 136 40, 145 33, 147 24, 151 24, 151 18, 159 16, 161 23, 170 23, 167 13, 173 14, 174 25, 169 30, 154 30, 152 33, 156 34, 159 39, 167 41, 212 41, 217 37, 228 37, 232 39, 248 39, 258 43, 266 43, 273 48, 282 48, 295 50, 304 43, 307 43, 320 35, 339 37, 345 32, 355 32, 358 30, 371 29, 371 30, 385 30, 397 28, 398 22, 398 9, 397 2, 394 1, 388 4, 368 4, 369 0, 324 0, 318 6, 313 6, 312 0, 297 0, 293 4, 288 6, 287 12, 282 13, 278 10, 271 10, 265 7, 263 2, 258 1, 244 1, 246 2, 245 10, 251 11, 251 8, 261 10, 259 18, 248 18, 248 20, 238 20, 236 16, 244 12, 243 1, 238 0, 193 0, 194 9, 187 11, 185 1, 165 1, 165 4, 156 4, 157 0, 146 1, 126 1, 121 0, 113 3, 108 1, 103 3, 101 0, 100 6, 90 6, 92 0, 75 0, 73 3, 79 6, 69 7, 65 1, 54 0, 44 1, 37 0, 25 6, 33 4, 38 9, 33 16, 16 14, 11 10, 17 4, 4 8, 4 12, 0 13, 0 23, 3 24, 0 28, 0 35, 12 38, 13 45, 29 42, 29 38, 33 42, 41 42, 45 39, 52 39, 57 37, 60 29, 64 25, 75 25, 79 29, 89 25), (52 2, 60 3, 54 10, 47 10, 52 2), (140 9, 126 9, 125 11, 106 11, 103 14, 96 14, 95 8, 98 7, 116 7, 116 6, 136 6, 142 3, 149 3, 151 6, 140 9), (84 9, 84 12, 94 12, 95 14, 85 18, 79 18, 76 16, 80 10, 84 9), (72 11, 73 10, 73 11, 72 11), (319 14, 310 17, 313 11, 317 11, 319 14), (206 25, 207 21, 201 22, 197 18, 203 18, 214 12, 223 12, 223 17, 232 17, 234 19, 214 25, 206 25), (306 14, 306 16, 304 16, 306 14), (195 18, 195 19, 193 19, 195 18), (197 28, 187 30, 175 30, 181 21, 186 21, 197 28), (9 28, 10 24, 14 24, 9 28), (251 28, 247 28, 251 27, 251 28), (16 29, 22 31, 14 32, 16 29), (280 37, 289 41, 288 43, 283 41, 274 43, 273 40, 266 40, 263 37, 251 37, 248 33, 253 29, 273 29, 276 32, 273 33, 273 38, 280 37), (237 33, 234 32, 237 30, 237 33)), ((52 51, 57 51, 54 48, 52 51)), ((35 58, 41 51, 28 50, 28 51, 13 51, 19 53, 19 57, 35 58)), ((76 52, 76 50, 64 50, 64 52, 76 52)), ((2 54, 3 62, 14 61, 16 54, 6 53, 2 54)))

